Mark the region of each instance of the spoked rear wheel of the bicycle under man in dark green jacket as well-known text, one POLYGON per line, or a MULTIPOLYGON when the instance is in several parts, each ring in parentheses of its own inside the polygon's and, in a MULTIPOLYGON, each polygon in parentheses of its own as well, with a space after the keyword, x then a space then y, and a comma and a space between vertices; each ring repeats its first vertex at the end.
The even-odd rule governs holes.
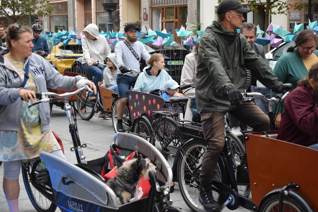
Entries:
MULTIPOLYGON (((204 140, 192 140, 183 147, 178 157, 178 184, 181 191, 184 202, 192 211, 203 212, 205 211, 203 206, 199 202, 199 176, 201 168, 199 168, 192 176, 193 170, 202 164, 204 152, 206 150, 207 142, 204 140), (195 179, 194 179, 195 178, 195 179)), ((222 166, 217 164, 215 169, 214 179, 219 182, 226 182, 226 174, 222 166)), ((216 201, 221 198, 218 192, 212 192, 216 201)))

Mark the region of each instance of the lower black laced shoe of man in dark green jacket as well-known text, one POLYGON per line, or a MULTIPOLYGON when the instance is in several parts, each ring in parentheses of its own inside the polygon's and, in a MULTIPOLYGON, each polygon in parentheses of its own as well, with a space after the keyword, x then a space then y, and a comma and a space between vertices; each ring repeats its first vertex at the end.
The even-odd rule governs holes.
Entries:
POLYGON ((199 202, 202 204, 205 211, 219 211, 220 205, 216 202, 212 195, 212 185, 202 187, 200 185, 200 195, 199 195, 199 202))

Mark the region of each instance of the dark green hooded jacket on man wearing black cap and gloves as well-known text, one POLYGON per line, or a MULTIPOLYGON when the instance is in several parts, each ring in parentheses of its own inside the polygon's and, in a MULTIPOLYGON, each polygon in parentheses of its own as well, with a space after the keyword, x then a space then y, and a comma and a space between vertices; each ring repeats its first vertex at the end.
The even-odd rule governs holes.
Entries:
MULTIPOLYGON (((282 85, 267 62, 250 47, 244 35, 227 31, 219 21, 205 29, 198 49, 196 104, 200 112, 227 112, 230 88, 244 93, 250 70, 267 88, 282 85)), ((231 107, 234 110, 236 107, 231 107)))

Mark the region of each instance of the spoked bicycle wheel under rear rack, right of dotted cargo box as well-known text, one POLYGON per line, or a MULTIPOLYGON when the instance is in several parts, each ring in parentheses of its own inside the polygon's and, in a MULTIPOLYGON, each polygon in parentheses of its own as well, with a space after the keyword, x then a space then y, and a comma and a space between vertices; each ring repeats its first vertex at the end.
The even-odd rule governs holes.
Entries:
POLYGON ((156 146, 157 149, 162 153, 162 155, 168 161, 170 167, 173 166, 173 161, 176 156, 176 151, 178 149, 178 144, 180 137, 173 139, 173 136, 177 132, 177 123, 171 117, 162 117, 152 130, 149 142, 156 146), (163 149, 165 145, 167 148, 163 149))

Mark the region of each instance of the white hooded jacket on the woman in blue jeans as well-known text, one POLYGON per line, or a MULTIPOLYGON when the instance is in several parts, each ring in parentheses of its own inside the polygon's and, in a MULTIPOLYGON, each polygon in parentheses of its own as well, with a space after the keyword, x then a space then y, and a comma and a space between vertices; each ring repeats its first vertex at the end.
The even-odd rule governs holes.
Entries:
POLYGON ((97 61, 104 62, 103 54, 105 54, 105 57, 111 54, 106 38, 103 35, 98 34, 98 27, 93 23, 88 24, 83 32, 88 32, 95 37, 96 40, 93 41, 87 37, 82 38, 82 64, 97 61))

